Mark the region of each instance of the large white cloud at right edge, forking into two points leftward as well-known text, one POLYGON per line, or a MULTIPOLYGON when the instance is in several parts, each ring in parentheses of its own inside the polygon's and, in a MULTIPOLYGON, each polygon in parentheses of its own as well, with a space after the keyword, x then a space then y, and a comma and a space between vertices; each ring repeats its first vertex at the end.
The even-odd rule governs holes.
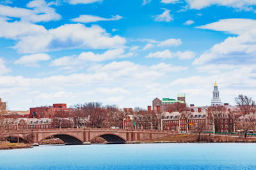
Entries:
POLYGON ((227 19, 203 25, 197 28, 224 31, 238 36, 228 37, 225 41, 212 46, 211 49, 196 58, 193 64, 209 62, 219 63, 251 63, 256 55, 256 20, 227 19))

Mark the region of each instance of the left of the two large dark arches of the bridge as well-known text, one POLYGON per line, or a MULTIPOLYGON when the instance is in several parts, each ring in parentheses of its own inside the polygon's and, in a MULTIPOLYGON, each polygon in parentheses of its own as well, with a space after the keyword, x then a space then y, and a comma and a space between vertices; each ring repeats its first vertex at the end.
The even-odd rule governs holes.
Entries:
POLYGON ((44 138, 38 140, 38 143, 40 143, 44 139, 50 138, 51 136, 61 139, 61 141, 63 141, 65 143, 65 145, 81 145, 81 144, 83 144, 83 140, 77 138, 76 136, 74 136, 72 134, 66 134, 66 133, 54 133, 54 134, 44 136, 44 138))

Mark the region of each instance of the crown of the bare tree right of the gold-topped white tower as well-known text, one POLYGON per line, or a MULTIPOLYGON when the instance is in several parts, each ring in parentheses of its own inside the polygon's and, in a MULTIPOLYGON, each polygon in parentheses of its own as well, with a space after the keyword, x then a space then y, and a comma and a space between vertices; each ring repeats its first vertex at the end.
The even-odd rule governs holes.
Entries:
POLYGON ((242 113, 245 115, 255 113, 255 101, 253 101, 252 97, 243 96, 243 94, 240 94, 235 98, 235 101, 242 113))

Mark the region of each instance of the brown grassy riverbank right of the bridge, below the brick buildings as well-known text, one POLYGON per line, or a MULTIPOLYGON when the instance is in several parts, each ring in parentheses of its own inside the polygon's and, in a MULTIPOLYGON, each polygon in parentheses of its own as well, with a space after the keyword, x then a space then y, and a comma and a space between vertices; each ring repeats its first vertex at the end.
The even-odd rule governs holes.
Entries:
POLYGON ((198 140, 198 134, 176 134, 146 143, 256 143, 256 138, 203 134, 198 140))

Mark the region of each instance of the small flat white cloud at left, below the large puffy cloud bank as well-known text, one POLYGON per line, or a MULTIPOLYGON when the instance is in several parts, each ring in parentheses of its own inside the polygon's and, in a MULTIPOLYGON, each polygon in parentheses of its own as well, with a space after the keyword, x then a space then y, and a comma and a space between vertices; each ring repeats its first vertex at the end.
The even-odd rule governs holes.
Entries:
POLYGON ((31 55, 24 55, 16 60, 14 64, 24 64, 29 67, 39 67, 38 62, 49 60, 51 57, 46 53, 36 53, 31 55))

